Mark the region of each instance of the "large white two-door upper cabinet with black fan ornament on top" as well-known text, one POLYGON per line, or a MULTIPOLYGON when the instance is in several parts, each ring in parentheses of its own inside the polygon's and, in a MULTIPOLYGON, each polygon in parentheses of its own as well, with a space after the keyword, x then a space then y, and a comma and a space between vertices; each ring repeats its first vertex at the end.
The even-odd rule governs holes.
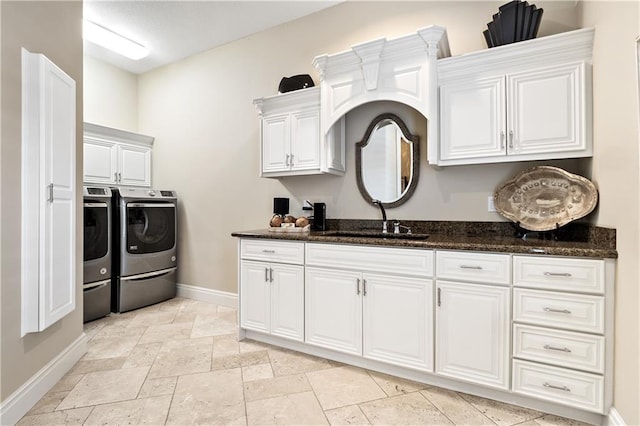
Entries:
MULTIPOLYGON (((593 29, 438 63, 438 165, 590 157, 593 29)), ((434 144, 435 145, 435 144, 434 144)))

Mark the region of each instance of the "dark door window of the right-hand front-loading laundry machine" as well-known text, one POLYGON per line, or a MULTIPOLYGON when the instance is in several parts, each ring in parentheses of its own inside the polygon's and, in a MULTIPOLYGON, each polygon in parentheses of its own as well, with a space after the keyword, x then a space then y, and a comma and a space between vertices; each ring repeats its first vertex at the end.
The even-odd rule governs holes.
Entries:
POLYGON ((127 252, 157 253, 176 243, 174 203, 127 204, 127 252))

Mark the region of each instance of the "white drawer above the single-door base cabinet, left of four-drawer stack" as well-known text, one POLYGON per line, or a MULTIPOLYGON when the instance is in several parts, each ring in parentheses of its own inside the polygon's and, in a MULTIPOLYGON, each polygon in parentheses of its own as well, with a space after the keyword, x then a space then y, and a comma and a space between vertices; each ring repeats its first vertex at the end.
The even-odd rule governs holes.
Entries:
POLYGON ((510 267, 508 254, 436 252, 436 276, 442 279, 508 285, 510 267))

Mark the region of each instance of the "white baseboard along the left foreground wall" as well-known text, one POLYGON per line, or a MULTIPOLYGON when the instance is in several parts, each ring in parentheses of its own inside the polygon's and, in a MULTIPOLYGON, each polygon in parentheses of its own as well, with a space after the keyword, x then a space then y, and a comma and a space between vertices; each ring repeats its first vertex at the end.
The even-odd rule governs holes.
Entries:
POLYGON ((87 352, 86 334, 73 343, 34 374, 0 405, 0 424, 18 422, 87 352))

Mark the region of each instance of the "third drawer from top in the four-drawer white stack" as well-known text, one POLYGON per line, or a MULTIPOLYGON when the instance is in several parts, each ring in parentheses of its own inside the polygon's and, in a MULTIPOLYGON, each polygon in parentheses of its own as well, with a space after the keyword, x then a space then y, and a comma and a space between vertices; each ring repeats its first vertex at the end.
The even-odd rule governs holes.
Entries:
POLYGON ((514 324, 513 356, 604 373, 604 337, 514 324))

